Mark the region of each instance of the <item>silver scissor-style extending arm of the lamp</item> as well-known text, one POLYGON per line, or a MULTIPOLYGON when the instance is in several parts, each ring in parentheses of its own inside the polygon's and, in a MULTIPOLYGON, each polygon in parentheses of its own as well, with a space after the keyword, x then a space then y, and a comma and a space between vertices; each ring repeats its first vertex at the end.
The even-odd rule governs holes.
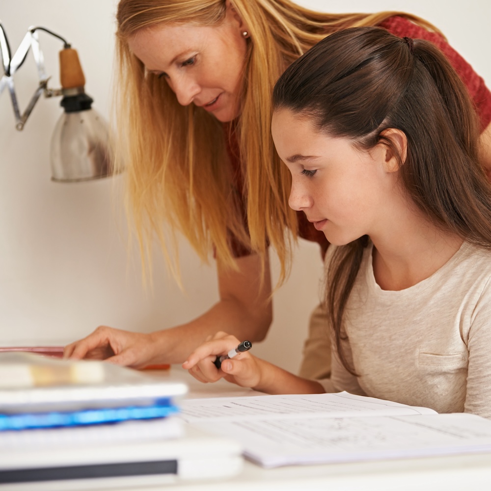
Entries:
POLYGON ((8 87, 10 93, 10 99, 12 101, 12 108, 14 110, 15 122, 17 130, 21 131, 26 124, 27 118, 29 117, 32 109, 34 108, 36 102, 38 101, 41 94, 44 93, 45 97, 53 97, 62 95, 62 89, 49 89, 48 81, 49 77, 46 76, 45 68, 44 68, 44 56, 41 48, 39 46, 39 40, 37 35, 37 30, 43 30, 48 32, 49 34, 61 39, 64 43, 65 48, 69 48, 70 45, 67 41, 55 34, 54 32, 44 28, 44 27, 29 27, 24 39, 22 40, 19 48, 15 52, 13 56, 10 53, 10 46, 8 44, 7 36, 5 34, 5 30, 1 25, 0 21, 0 51, 3 59, 3 69, 5 74, 0 79, 0 95, 5 87, 8 87), (32 48, 32 55, 34 57, 34 61, 36 63, 38 77, 39 77, 39 85, 37 89, 34 91, 31 100, 29 101, 26 110, 21 115, 19 104, 17 102, 17 95, 15 93, 15 86, 13 75, 14 73, 22 66, 24 63, 29 48, 32 48))

